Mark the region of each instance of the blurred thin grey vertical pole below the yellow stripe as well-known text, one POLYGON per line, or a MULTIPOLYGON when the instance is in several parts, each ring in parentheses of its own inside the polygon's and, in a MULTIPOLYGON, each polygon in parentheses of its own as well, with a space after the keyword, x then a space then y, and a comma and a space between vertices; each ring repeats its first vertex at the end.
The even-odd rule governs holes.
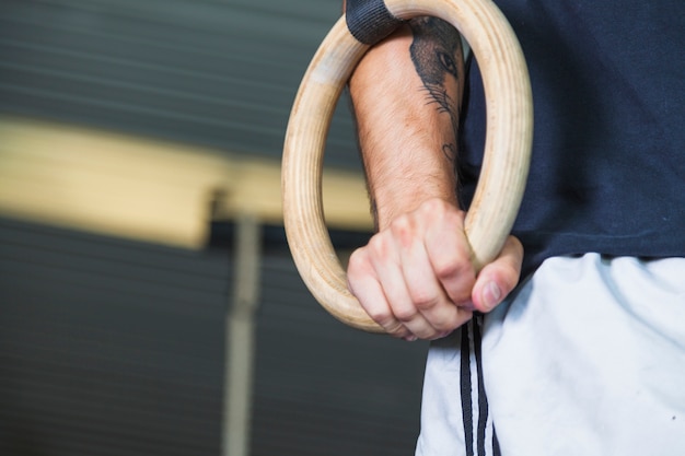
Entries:
POLYGON ((249 454, 260 241, 257 220, 249 215, 236 217, 233 296, 225 319, 223 456, 249 454))

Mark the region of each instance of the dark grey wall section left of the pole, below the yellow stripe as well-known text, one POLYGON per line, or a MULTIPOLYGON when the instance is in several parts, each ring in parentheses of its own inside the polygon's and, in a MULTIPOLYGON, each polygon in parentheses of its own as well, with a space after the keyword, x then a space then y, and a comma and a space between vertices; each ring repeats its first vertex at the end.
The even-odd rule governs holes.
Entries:
POLYGON ((0 452, 217 454, 225 256, 0 223, 0 452))

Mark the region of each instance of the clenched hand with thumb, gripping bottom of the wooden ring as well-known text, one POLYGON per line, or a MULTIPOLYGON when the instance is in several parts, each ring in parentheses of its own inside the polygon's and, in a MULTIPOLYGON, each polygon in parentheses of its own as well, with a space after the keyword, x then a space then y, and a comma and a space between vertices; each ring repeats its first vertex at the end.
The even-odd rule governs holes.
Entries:
POLYGON ((523 247, 509 236, 479 273, 464 233, 465 212, 441 199, 394 219, 352 254, 350 292, 386 332, 406 340, 437 339, 489 312, 521 274, 523 247))

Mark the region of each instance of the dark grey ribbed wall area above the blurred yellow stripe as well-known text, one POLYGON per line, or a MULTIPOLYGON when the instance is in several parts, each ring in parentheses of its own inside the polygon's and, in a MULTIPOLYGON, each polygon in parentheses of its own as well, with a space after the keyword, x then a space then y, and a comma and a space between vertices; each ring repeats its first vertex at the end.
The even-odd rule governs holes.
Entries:
MULTIPOLYGON (((337 0, 3 0, 0 109, 279 157, 337 0)), ((326 162, 359 168, 341 103, 326 162)))

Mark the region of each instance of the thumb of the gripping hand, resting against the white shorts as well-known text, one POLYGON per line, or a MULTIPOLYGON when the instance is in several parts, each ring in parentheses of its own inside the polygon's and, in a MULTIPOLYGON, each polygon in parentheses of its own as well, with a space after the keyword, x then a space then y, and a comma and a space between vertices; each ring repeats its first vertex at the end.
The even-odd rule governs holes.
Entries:
POLYGON ((522 262, 523 246, 518 238, 509 236, 500 255, 478 274, 472 294, 474 307, 490 312, 499 305, 519 283, 522 262))

